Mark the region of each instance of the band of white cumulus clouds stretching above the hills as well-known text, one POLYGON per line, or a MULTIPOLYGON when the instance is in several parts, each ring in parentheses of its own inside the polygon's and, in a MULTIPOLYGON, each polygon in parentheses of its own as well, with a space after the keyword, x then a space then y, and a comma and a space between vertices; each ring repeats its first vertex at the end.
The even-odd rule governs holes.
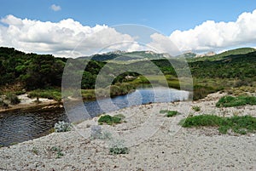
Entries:
MULTIPOLYGON (((42 22, 13 15, 0 21, 0 46, 14 47, 25 52, 78 57, 113 50, 146 50, 145 46, 137 43, 137 37, 105 25, 83 26, 73 19, 42 22)), ((149 37, 151 42, 148 42, 148 47, 171 55, 178 54, 179 50, 200 53, 255 47, 256 9, 252 13, 241 14, 234 22, 207 20, 188 31, 173 31, 169 37, 159 33, 149 37)))

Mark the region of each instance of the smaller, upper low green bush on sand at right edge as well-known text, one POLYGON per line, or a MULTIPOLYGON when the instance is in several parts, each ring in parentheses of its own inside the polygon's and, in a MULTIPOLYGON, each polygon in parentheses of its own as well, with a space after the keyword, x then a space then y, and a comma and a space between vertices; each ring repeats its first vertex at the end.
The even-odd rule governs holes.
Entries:
POLYGON ((247 95, 233 97, 226 95, 220 98, 216 104, 217 107, 232 107, 241 105, 256 105, 256 97, 247 95))

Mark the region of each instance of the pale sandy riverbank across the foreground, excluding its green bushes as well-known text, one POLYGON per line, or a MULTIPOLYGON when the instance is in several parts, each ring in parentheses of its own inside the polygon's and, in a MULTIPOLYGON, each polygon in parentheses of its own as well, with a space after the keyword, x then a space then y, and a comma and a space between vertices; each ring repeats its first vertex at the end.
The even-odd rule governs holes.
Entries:
POLYGON ((215 114, 256 117, 256 105, 217 108, 225 94, 209 94, 195 102, 155 103, 108 113, 122 114, 125 122, 101 125, 114 140, 124 140, 128 154, 111 155, 112 140, 90 139, 98 117, 67 133, 53 133, 0 149, 3 170, 255 170, 254 134, 219 134, 217 128, 181 128, 188 115, 215 114), (199 106, 200 111, 193 110, 199 106), (178 111, 165 117, 161 110, 178 111), (84 135, 84 136, 81 136, 84 135), (144 136, 145 135, 145 136, 144 136))

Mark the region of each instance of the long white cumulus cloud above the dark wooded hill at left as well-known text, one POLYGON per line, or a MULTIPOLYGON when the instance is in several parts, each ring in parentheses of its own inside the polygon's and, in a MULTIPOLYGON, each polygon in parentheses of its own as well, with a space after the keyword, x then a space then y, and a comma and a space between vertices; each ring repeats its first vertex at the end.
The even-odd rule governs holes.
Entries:
POLYGON ((83 26, 73 19, 54 23, 8 15, 1 22, 0 46, 25 52, 76 57, 98 53, 102 48, 137 49, 139 46, 133 37, 109 26, 83 26))

